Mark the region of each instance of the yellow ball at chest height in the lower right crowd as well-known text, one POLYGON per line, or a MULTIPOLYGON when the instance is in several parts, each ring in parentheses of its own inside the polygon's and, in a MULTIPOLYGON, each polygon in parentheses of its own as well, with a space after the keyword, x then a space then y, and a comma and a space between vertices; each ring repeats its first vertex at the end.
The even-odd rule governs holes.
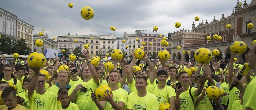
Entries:
POLYGON ((214 85, 211 85, 207 87, 207 89, 205 90, 205 94, 210 99, 217 99, 220 96, 220 89, 214 85))

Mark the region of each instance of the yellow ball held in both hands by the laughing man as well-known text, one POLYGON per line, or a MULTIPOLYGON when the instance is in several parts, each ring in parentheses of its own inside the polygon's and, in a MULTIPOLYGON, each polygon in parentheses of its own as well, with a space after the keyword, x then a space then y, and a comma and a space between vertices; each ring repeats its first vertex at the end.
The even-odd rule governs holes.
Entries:
POLYGON ((103 100, 103 97, 105 97, 104 95, 108 96, 108 93, 111 94, 110 91, 111 89, 107 85, 100 85, 95 89, 95 95, 98 100, 103 100))

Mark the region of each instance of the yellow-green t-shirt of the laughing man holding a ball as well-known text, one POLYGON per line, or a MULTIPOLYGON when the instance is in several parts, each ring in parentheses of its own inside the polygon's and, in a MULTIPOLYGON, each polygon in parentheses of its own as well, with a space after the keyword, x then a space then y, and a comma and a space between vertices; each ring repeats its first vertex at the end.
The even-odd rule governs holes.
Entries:
MULTIPOLYGON (((127 105, 128 92, 123 90, 122 88, 118 88, 117 90, 112 91, 112 93, 113 93, 113 99, 117 104, 119 101, 122 101, 125 104, 122 109, 122 110, 125 110, 127 105)), ((113 110, 113 109, 114 108, 112 107, 112 105, 108 101, 106 101, 106 106, 104 110, 113 110)))

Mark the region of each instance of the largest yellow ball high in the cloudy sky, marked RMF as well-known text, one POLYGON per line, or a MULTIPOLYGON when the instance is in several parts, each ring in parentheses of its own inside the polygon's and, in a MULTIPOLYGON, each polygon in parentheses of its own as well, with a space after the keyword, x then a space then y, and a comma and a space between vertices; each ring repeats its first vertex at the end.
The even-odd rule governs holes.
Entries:
POLYGON ((82 8, 80 14, 81 14, 82 18, 84 18, 86 20, 90 20, 94 16, 94 11, 90 6, 85 6, 82 8))

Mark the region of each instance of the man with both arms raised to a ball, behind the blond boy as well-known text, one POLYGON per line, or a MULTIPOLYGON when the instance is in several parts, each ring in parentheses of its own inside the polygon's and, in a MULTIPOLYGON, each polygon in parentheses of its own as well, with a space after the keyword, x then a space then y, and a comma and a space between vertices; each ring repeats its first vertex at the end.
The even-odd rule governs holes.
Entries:
MULTIPOLYGON (((132 53, 132 56, 133 56, 133 58, 131 59, 131 63, 130 63, 130 64, 134 64, 134 62, 135 62, 135 60, 133 60, 133 59, 135 59, 134 51, 133 51, 133 53, 132 53)), ((155 68, 154 65, 151 63, 150 59, 148 59, 148 56, 147 56, 146 52, 145 52, 145 54, 144 54, 144 56, 143 56, 142 59, 145 60, 146 63, 148 64, 148 67, 149 67, 150 70, 151 70, 150 73, 156 72, 156 68, 155 68)), ((132 93, 132 92, 136 92, 137 89, 136 89, 136 86, 135 86, 135 80, 133 79, 133 73, 134 73, 135 77, 136 77, 138 74, 142 74, 142 75, 145 75, 145 76, 147 76, 147 74, 144 74, 142 71, 137 71, 137 72, 135 72, 135 69, 133 69, 133 65, 129 65, 129 66, 128 66, 128 69, 127 69, 126 73, 127 73, 127 83, 128 83, 128 87, 129 87, 131 93, 132 93)), ((149 80, 148 82, 150 82, 150 83, 148 83, 148 84, 149 84, 149 85, 153 84, 154 81, 155 81, 155 79, 156 79, 156 76, 153 75, 153 74, 150 74, 150 75, 149 75, 149 78, 148 78, 148 80, 149 80)))

